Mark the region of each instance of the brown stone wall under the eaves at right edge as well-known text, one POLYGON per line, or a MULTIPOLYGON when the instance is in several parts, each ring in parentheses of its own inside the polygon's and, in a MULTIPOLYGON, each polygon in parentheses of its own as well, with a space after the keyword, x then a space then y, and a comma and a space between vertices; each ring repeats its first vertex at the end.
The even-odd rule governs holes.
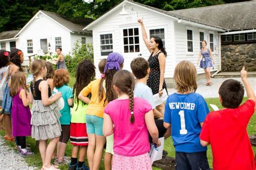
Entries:
POLYGON ((256 71, 256 44, 221 45, 221 71, 256 71))

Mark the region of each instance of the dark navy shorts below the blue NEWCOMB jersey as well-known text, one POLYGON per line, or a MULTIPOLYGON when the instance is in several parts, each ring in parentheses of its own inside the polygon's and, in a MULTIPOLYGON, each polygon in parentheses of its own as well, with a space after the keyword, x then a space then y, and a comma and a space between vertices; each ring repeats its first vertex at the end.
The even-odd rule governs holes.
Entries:
POLYGON ((176 152, 175 169, 210 170, 206 151, 204 152, 176 152))

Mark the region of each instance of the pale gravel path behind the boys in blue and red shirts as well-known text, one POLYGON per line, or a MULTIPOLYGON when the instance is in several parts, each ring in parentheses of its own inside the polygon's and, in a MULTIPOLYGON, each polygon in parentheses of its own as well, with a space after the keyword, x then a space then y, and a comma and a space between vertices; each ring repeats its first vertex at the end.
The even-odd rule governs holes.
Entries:
MULTIPOLYGON (((201 94, 204 98, 215 98, 219 97, 218 91, 220 85, 223 83, 223 81, 230 79, 230 78, 211 78, 212 86, 206 86, 206 79, 199 79, 197 81, 198 88, 197 93, 201 94)), ((238 81, 241 81, 241 78, 232 78, 238 81)), ((253 91, 256 93, 256 78, 255 77, 249 77, 248 81, 250 82, 250 85, 253 89, 253 91)), ((176 92, 175 89, 168 89, 169 94, 172 94, 176 92)), ((246 92, 245 92, 246 96, 246 92)))

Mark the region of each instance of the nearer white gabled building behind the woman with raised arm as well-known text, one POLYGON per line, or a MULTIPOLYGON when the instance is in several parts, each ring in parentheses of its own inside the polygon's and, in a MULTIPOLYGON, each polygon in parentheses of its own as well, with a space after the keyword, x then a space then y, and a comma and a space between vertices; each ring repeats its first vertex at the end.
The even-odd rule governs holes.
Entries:
POLYGON ((225 29, 132 1, 123 1, 84 28, 84 30, 92 30, 95 65, 98 65, 100 59, 106 58, 110 52, 122 53, 126 70, 130 70, 131 60, 138 55, 149 58, 150 52, 143 42, 140 24, 137 22, 141 17, 144 17, 147 35, 159 36, 164 41, 167 51, 165 69, 167 84, 172 82, 174 67, 181 60, 190 60, 196 65, 198 73, 204 72, 197 66, 200 43, 204 39, 213 51, 215 60, 213 71, 219 69, 218 32, 225 32, 225 29))

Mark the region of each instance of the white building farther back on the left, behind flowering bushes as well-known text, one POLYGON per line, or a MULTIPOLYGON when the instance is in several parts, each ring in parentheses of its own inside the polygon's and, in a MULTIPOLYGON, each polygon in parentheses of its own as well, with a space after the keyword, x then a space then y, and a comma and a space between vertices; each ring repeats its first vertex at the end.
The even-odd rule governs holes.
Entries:
POLYGON ((77 40, 83 44, 92 43, 91 31, 83 31, 91 22, 90 18, 70 19, 39 10, 21 30, 15 30, 15 35, 15 31, 0 33, 0 47, 10 51, 10 45, 15 42, 15 47, 24 52, 25 59, 39 52, 55 52, 57 47, 62 47, 65 55, 72 51, 77 40), (9 36, 1 38, 1 34, 9 36))

